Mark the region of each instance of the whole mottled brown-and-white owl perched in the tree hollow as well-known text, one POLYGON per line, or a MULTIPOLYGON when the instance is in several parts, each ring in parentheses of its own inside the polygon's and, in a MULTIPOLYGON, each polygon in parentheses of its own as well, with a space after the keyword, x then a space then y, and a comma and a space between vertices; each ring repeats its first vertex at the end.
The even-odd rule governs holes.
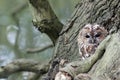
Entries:
POLYGON ((78 47, 82 59, 93 54, 100 42, 107 36, 107 30, 98 24, 87 24, 79 32, 78 47))

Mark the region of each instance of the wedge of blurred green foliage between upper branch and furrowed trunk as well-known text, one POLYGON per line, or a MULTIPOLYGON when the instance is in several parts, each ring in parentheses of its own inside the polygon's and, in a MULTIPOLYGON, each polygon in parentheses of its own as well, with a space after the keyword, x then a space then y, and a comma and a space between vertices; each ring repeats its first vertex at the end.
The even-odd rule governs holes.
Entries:
POLYGON ((63 23, 66 23, 67 19, 70 18, 79 1, 80 0, 49 0, 52 9, 63 23))

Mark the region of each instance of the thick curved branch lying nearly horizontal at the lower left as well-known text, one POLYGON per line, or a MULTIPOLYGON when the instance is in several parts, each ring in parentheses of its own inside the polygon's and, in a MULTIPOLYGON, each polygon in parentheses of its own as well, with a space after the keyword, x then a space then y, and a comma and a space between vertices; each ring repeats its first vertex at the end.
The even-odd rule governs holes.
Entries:
POLYGON ((48 64, 40 64, 34 60, 19 59, 13 61, 6 66, 0 67, 0 78, 7 78, 13 73, 21 71, 35 72, 38 74, 45 74, 48 71, 48 64))

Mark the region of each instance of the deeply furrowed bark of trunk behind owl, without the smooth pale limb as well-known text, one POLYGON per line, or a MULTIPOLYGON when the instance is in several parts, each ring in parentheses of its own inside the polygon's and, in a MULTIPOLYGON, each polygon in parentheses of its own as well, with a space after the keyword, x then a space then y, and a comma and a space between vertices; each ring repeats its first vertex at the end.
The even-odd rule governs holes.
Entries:
POLYGON ((70 61, 79 58, 76 39, 80 29, 85 24, 98 23, 103 25, 110 33, 117 32, 120 27, 119 8, 119 0, 81 1, 75 8, 70 22, 68 23, 68 29, 64 27, 59 36, 55 50, 56 57, 62 57, 70 61), (70 28, 70 26, 72 27, 70 28))

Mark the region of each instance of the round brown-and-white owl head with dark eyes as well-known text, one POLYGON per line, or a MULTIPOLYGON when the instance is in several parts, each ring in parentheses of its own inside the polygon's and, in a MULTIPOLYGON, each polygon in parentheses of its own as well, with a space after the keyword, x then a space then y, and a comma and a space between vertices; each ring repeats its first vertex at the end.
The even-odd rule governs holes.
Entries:
POLYGON ((99 44, 107 35, 107 30, 98 24, 87 24, 80 31, 84 43, 99 44))

